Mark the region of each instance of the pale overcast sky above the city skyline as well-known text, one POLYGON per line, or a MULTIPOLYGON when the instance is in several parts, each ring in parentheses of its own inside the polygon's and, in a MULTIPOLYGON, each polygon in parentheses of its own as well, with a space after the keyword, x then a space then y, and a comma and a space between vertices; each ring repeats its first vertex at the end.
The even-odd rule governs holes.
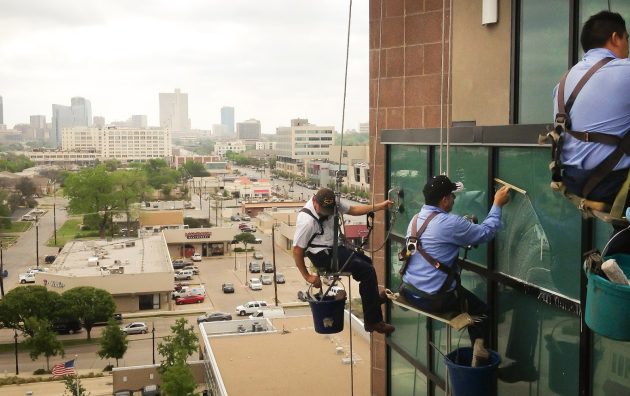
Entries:
MULTIPOLYGON (((307 117, 341 128, 347 0, 0 0, 4 123, 82 96, 107 122, 188 93, 192 127, 307 117)), ((354 1, 346 129, 368 120, 368 1, 354 1)))

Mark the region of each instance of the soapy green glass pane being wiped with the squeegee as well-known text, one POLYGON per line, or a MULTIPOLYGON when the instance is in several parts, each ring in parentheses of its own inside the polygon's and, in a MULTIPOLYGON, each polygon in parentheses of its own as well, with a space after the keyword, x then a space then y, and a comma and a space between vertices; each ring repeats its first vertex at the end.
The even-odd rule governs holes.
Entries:
POLYGON ((523 190, 503 207, 496 241, 497 269, 577 298, 580 224, 577 208, 549 187, 548 148, 500 148, 498 177, 523 190), (575 232, 567 232, 575 230, 575 232))

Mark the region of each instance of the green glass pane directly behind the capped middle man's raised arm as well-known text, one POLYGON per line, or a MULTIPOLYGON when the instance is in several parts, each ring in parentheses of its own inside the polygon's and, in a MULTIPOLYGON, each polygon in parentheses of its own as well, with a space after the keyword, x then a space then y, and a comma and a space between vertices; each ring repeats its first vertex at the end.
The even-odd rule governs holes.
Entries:
MULTIPOLYGON (((436 153, 438 150, 436 150, 436 153)), ((454 214, 460 216, 475 215, 479 222, 488 215, 488 155, 487 147, 451 146, 448 156, 449 175, 454 183, 464 183, 464 190, 456 193, 454 214)), ((442 161, 446 163, 446 155, 442 161)), ((439 156, 436 154, 433 169, 439 169, 439 156)), ((461 249, 461 257, 464 249, 461 249)), ((487 249, 485 245, 468 251, 467 260, 487 266, 487 249)))

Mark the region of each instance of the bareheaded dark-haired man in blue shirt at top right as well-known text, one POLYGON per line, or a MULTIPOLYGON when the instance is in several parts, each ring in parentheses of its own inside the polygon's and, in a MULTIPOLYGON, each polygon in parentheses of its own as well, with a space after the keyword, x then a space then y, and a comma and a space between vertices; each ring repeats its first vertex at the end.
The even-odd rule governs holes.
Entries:
MULTIPOLYGON (((567 74, 562 98, 570 120, 567 129, 578 132, 563 134, 562 181, 568 191, 578 196, 612 203, 626 179, 630 155, 626 151, 618 161, 613 161, 609 172, 603 172, 603 180, 597 182, 594 179, 589 183, 593 170, 604 162, 616 145, 593 141, 583 132, 621 138, 630 129, 630 61, 625 21, 621 15, 609 11, 595 14, 584 24, 580 42, 584 57, 567 74), (583 88, 576 90, 589 69, 600 61, 606 62, 603 61, 605 58, 611 60, 594 69, 595 73, 583 88), (574 91, 579 94, 571 106, 570 97, 574 91), (585 189, 587 183, 593 187, 585 189)), ((554 114, 559 112, 559 86, 554 89, 554 114)))

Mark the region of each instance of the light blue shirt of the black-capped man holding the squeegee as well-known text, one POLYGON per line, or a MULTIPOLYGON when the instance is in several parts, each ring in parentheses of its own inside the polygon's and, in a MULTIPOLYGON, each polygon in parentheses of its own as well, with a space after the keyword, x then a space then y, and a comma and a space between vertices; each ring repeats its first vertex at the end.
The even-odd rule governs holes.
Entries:
MULTIPOLYGON (((429 222, 421 236, 424 250, 440 264, 453 266, 461 246, 477 245, 494 238, 501 228, 501 207, 493 205, 488 217, 481 224, 474 224, 461 216, 449 214, 442 209, 424 205, 416 220, 419 230, 424 220, 431 214, 439 214, 429 222)), ((412 223, 407 227, 407 238, 411 236, 412 223)), ((434 294, 444 284, 446 273, 429 264, 418 252, 409 258, 409 266, 403 276, 403 282, 409 283, 425 293, 434 294)), ((449 290, 455 287, 455 282, 449 290)))

